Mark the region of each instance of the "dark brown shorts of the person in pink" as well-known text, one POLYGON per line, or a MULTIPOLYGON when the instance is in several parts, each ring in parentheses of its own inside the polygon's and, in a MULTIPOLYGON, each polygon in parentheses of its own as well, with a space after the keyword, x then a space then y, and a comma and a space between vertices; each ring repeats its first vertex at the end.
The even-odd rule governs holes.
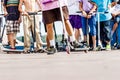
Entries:
MULTIPOLYGON (((68 8, 67 6, 62 7, 63 10, 63 16, 65 20, 69 19, 69 13, 68 13, 68 8)), ((43 22, 45 24, 50 24, 53 23, 55 21, 61 21, 61 14, 60 14, 60 8, 55 8, 52 10, 47 10, 47 11, 43 11, 43 22)))

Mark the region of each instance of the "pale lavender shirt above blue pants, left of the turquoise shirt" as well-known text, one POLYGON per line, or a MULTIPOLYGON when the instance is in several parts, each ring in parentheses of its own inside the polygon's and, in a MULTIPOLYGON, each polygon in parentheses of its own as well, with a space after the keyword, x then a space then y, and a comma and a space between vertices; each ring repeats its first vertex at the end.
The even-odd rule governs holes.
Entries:
POLYGON ((79 0, 83 4, 83 10, 89 12, 93 8, 93 4, 89 2, 89 0, 79 0))

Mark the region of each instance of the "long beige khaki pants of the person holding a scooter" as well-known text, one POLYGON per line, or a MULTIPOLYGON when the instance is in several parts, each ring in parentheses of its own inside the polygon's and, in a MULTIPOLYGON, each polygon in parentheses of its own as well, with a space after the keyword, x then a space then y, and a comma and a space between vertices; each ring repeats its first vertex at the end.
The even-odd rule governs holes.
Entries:
MULTIPOLYGON (((40 37, 40 28, 39 28, 39 16, 35 16, 35 40, 36 40, 36 49, 40 49, 42 45, 42 40, 40 37)), ((24 25, 24 48, 25 50, 30 49, 30 32, 34 33, 34 18, 33 15, 23 16, 23 25, 24 25)))

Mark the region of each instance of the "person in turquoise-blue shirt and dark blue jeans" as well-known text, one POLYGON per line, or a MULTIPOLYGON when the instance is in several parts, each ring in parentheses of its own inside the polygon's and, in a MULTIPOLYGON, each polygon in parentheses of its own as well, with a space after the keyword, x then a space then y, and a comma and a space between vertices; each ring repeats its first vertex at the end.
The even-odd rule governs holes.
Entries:
POLYGON ((98 6, 97 10, 100 12, 100 39, 101 43, 105 42, 106 50, 111 50, 111 18, 112 15, 108 9, 111 0, 92 0, 98 6))

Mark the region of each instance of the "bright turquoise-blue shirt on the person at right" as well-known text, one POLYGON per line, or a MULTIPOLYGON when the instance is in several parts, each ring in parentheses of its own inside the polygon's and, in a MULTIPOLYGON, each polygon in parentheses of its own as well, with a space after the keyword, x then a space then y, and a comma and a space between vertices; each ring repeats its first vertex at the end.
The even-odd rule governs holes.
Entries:
POLYGON ((100 21, 107 21, 112 18, 112 15, 108 9, 108 5, 112 2, 111 0, 92 0, 92 1, 96 3, 98 12, 108 12, 100 14, 100 21))

